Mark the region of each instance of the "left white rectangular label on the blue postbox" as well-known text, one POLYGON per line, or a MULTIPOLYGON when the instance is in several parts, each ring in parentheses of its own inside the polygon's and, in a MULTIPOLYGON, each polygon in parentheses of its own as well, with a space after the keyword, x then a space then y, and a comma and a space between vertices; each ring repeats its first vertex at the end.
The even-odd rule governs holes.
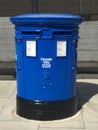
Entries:
POLYGON ((36 41, 26 41, 26 56, 36 57, 36 41))

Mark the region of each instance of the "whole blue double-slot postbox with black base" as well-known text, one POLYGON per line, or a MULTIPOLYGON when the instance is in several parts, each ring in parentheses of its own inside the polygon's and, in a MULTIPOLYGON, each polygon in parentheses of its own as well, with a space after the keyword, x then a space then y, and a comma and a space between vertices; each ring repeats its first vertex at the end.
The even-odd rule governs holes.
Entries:
POLYGON ((15 24, 17 114, 37 120, 72 116, 80 16, 25 14, 15 24))

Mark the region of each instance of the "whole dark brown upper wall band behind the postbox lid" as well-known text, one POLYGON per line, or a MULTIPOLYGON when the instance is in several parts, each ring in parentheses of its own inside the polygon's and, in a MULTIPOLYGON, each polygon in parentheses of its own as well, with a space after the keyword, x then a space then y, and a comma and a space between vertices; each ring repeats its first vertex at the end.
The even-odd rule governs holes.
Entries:
POLYGON ((86 20, 98 20, 98 0, 0 0, 0 16, 32 12, 80 14, 86 20))

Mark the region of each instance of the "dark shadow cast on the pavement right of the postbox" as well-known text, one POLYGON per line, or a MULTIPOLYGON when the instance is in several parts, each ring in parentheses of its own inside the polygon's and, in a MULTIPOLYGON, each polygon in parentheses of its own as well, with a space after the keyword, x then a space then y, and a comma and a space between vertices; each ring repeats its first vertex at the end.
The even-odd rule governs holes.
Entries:
POLYGON ((93 83, 77 82, 78 108, 80 109, 94 95, 98 93, 98 85, 93 83))

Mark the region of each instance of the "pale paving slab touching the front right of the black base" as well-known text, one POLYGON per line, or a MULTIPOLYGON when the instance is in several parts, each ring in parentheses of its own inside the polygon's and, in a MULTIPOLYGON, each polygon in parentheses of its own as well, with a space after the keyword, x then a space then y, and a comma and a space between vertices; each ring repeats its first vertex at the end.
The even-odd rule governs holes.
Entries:
POLYGON ((84 129, 84 122, 81 116, 81 111, 79 111, 75 116, 58 120, 58 121, 48 121, 39 124, 39 128, 68 128, 68 129, 84 129), (71 124, 71 125, 70 125, 71 124))

